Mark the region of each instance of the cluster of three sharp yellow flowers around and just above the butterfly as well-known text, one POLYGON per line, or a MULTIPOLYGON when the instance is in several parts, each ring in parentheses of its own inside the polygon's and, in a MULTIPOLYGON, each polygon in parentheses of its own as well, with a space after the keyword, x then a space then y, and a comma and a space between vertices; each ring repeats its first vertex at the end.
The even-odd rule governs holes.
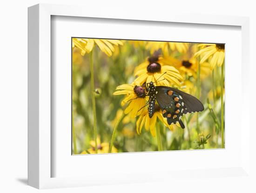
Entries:
POLYGON ((147 83, 152 81, 159 86, 181 86, 183 77, 172 64, 173 58, 152 55, 135 68, 135 81, 132 84, 122 84, 116 87, 117 91, 114 92, 114 95, 125 95, 121 105, 128 104, 124 113, 130 113, 132 117, 139 116, 136 122, 138 134, 141 133, 144 126, 146 130, 150 130, 152 136, 155 136, 155 123, 158 120, 163 122, 170 130, 173 129, 162 116, 162 111, 158 105, 155 107, 152 118, 149 118, 148 108, 146 108, 148 103, 147 83), (157 81, 160 77, 162 77, 162 80, 157 81))

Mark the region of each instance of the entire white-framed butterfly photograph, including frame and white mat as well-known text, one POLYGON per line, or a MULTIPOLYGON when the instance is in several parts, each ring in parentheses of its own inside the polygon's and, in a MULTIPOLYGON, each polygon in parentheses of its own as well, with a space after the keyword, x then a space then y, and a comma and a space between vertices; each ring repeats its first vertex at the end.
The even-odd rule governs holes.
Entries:
POLYGON ((30 186, 250 178, 248 18, 39 4, 28 39, 30 186))

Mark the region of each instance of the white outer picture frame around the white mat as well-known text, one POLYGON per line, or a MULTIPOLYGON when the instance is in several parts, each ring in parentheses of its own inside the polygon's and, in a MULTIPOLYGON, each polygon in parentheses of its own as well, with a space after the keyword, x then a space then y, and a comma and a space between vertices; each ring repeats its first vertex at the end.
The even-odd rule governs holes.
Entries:
MULTIPOLYGON (((205 168, 193 171, 155 171, 154 173, 136 173, 131 171, 122 177, 102 174, 84 177, 52 177, 51 168, 51 16, 129 19, 155 22, 175 22, 203 25, 240 26, 242 32, 242 88, 244 96, 249 96, 249 18, 237 16, 196 15, 178 13, 130 14, 128 11, 116 12, 111 16, 108 10, 86 9, 83 6, 64 6, 39 4, 28 8, 28 185, 36 188, 78 187, 100 184, 152 182, 182 178, 241 177, 250 178, 249 116, 242 113, 243 133, 241 133, 241 161, 236 167, 205 168), (161 177, 159 177, 161 176, 161 177), (90 180, 88 180, 88 177, 90 180), (103 181, 103 179, 108 179, 103 181)), ((228 72, 227 72, 228 73, 228 72)), ((247 97, 249 103, 249 97, 247 97)), ((249 106, 244 105, 245 112, 249 106)), ((242 127, 242 125, 240 125, 242 127)), ((142 155, 141 155, 142 156, 142 155)), ((154 155, 152 155, 154 156, 154 155)), ((79 158, 79 157, 78 157, 79 158)), ((78 159, 77 158, 77 159, 78 159)))

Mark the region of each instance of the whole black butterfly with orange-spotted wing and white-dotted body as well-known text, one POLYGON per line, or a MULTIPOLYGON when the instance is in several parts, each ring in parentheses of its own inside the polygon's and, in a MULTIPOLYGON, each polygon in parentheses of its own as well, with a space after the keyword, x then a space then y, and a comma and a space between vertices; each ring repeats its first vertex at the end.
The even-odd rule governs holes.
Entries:
POLYGON ((185 126, 181 120, 184 114, 204 110, 203 104, 195 96, 172 87, 155 86, 153 82, 150 82, 146 84, 146 91, 149 96, 149 118, 154 115, 155 102, 157 102, 169 125, 179 122, 182 129, 184 129, 185 126))

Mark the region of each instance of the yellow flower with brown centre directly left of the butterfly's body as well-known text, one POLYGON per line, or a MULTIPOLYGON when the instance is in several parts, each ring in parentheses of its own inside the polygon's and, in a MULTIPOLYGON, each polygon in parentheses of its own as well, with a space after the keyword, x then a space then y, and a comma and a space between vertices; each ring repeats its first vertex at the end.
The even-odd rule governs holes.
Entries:
POLYGON ((122 84, 116 87, 113 95, 126 95, 122 100, 121 105, 129 103, 124 110, 125 114, 131 113, 131 117, 135 117, 141 113, 141 108, 146 104, 146 90, 141 84, 122 84), (140 110, 140 111, 139 111, 140 110))

